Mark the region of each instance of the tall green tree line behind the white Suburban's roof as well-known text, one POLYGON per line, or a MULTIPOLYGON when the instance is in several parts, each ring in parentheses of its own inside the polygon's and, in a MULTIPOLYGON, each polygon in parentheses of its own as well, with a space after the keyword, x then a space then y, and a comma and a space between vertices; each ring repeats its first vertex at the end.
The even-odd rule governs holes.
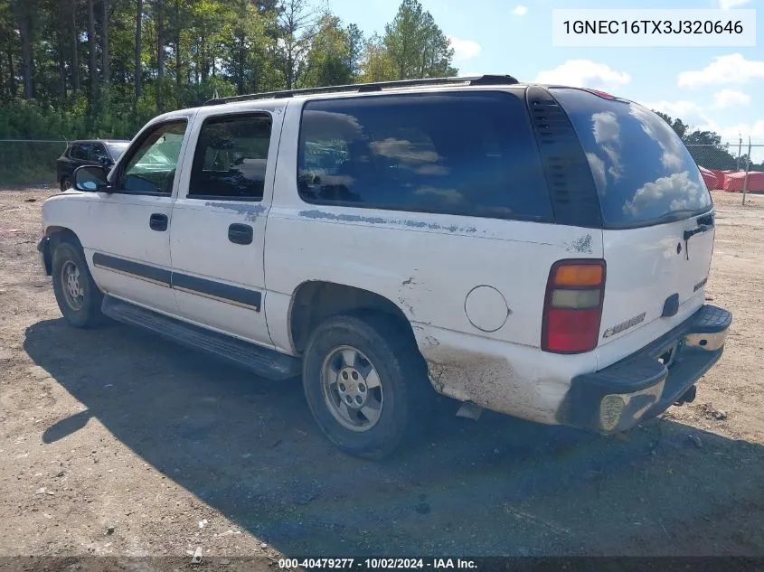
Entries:
POLYGON ((214 96, 456 75, 418 0, 365 37, 310 0, 0 0, 0 137, 131 137, 214 96))

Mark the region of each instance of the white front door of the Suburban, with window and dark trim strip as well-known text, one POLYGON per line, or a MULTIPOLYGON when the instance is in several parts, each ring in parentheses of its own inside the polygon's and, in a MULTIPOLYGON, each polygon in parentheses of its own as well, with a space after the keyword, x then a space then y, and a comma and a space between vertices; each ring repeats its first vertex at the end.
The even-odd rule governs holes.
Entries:
POLYGON ((187 125, 184 117, 146 128, 111 173, 114 192, 90 203, 94 239, 85 252, 100 289, 166 314, 177 314, 170 221, 187 125))

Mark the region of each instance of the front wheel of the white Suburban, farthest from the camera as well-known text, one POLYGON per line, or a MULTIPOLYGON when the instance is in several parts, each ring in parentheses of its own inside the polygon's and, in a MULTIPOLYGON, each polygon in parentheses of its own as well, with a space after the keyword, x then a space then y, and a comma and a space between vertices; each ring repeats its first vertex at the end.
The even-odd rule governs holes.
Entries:
POLYGON ((64 319, 77 328, 101 323, 103 294, 90 276, 80 245, 60 242, 53 251, 53 293, 64 319))

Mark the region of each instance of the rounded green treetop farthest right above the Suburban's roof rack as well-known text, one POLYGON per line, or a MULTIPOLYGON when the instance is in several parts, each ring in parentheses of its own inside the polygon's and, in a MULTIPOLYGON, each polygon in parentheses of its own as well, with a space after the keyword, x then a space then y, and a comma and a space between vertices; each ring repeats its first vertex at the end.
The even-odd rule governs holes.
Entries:
POLYGON ((457 75, 446 34, 418 0, 401 2, 398 14, 385 26, 382 43, 395 64, 397 80, 457 75))

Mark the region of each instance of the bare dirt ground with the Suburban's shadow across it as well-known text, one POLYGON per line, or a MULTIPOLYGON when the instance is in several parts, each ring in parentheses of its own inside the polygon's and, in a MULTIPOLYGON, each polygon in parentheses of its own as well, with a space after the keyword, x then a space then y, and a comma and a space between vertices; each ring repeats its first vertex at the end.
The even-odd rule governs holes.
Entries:
POLYGON ((64 324, 35 251, 54 192, 0 191, 0 557, 764 556, 764 198, 714 193, 734 323, 692 405, 622 438, 444 409, 373 464, 297 380, 64 324))

